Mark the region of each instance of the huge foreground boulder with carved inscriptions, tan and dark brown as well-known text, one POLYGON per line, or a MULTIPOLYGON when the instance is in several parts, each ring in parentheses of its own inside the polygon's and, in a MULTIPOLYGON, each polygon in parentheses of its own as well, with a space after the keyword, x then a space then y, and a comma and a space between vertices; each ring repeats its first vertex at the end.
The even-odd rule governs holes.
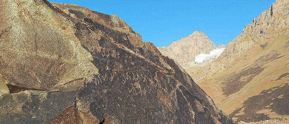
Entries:
POLYGON ((46 0, 0 5, 0 123, 234 123, 116 15, 46 0), (21 14, 11 19, 9 12, 21 14), (18 35, 15 24, 27 31, 18 35), (32 33, 41 26, 47 32, 32 33), (15 39, 22 49, 5 50, 15 39))

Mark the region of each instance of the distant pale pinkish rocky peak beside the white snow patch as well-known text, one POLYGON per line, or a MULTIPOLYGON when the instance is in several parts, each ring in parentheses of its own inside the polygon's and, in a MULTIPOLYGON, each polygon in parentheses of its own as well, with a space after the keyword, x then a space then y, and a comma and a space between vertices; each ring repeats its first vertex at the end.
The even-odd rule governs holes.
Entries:
POLYGON ((208 54, 210 51, 216 49, 216 46, 205 33, 194 31, 187 37, 173 41, 167 47, 162 46, 157 48, 163 55, 176 60, 183 68, 188 68, 197 65, 194 62, 195 55, 200 53, 208 54))

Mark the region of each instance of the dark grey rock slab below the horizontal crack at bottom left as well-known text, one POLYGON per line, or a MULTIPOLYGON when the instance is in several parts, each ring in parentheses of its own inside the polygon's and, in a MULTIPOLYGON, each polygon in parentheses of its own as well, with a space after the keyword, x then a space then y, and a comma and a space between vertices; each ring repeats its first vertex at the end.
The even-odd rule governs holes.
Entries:
POLYGON ((73 105, 78 91, 59 93, 25 92, 7 94, 0 100, 0 123, 47 123, 61 114, 67 105, 73 105))

